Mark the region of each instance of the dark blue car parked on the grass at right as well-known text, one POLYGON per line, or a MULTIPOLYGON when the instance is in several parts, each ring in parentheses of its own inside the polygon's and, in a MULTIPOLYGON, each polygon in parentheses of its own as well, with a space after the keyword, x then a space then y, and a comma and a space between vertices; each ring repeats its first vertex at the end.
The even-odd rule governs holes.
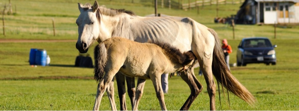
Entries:
POLYGON ((271 44, 265 37, 244 38, 237 51, 237 66, 246 66, 251 63, 276 64, 277 45, 271 44))

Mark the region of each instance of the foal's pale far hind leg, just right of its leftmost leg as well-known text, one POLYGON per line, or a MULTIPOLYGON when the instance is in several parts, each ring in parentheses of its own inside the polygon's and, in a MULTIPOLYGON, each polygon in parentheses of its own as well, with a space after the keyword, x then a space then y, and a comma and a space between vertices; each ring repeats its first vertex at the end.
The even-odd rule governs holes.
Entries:
POLYGON ((110 84, 107 86, 106 92, 107 92, 107 96, 110 101, 111 110, 116 111, 117 109, 116 109, 115 100, 114 100, 114 86, 113 85, 114 85, 114 78, 112 79, 110 84))

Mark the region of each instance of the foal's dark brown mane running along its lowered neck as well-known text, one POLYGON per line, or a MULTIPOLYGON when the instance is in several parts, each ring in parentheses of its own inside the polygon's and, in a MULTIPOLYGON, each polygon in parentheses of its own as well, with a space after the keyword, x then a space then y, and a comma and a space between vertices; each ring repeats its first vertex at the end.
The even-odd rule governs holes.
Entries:
POLYGON ((148 43, 154 43, 161 47, 164 50, 164 54, 172 61, 177 61, 179 64, 185 65, 187 60, 196 59, 195 55, 192 51, 187 51, 182 53, 178 48, 171 46, 168 43, 161 43, 161 42, 152 42, 148 41, 148 43))

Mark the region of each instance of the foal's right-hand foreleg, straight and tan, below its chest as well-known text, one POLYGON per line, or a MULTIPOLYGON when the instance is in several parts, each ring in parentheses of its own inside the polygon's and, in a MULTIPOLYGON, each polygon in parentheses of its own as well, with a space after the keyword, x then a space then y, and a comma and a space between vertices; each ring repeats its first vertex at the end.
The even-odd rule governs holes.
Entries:
POLYGON ((156 96, 159 100, 161 110, 166 111, 167 109, 164 101, 164 92, 161 84, 161 74, 150 74, 149 76, 154 84, 156 90, 156 96))

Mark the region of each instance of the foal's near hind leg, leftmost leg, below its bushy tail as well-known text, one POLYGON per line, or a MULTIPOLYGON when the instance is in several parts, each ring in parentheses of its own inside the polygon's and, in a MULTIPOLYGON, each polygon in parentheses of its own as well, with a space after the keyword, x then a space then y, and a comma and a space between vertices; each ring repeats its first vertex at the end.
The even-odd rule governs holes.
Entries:
POLYGON ((109 71, 106 72, 100 83, 98 84, 97 91, 96 91, 96 100, 93 106, 93 110, 98 111, 100 107, 100 103, 103 97, 103 94, 113 79, 113 76, 116 74, 117 71, 109 71))

